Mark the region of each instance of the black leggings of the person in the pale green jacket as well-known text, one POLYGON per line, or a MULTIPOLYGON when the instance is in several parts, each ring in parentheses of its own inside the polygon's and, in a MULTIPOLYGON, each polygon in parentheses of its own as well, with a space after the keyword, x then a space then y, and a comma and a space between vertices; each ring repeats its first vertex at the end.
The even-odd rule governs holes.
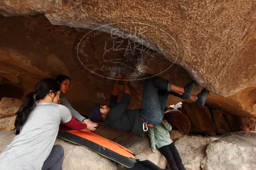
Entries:
POLYGON ((167 159, 172 170, 186 170, 182 164, 180 154, 179 154, 178 150, 176 149, 176 147, 173 145, 173 143, 171 143, 170 145, 162 146, 162 147, 158 148, 158 150, 167 159), (177 166, 175 166, 174 160, 176 161, 178 168, 177 168, 177 166))

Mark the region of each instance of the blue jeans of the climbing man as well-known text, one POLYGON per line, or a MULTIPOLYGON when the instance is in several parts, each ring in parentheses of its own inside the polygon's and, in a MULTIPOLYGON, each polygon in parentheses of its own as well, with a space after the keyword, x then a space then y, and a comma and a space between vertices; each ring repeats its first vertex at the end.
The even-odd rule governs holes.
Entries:
POLYGON ((164 117, 164 108, 172 82, 157 76, 145 80, 141 100, 141 116, 147 124, 156 126, 164 117))

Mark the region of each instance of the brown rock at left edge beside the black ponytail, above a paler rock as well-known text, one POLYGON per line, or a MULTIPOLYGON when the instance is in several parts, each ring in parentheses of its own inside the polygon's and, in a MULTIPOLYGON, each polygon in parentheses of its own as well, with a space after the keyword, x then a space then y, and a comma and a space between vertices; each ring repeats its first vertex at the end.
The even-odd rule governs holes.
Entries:
POLYGON ((0 102, 0 118, 14 116, 22 104, 20 99, 3 97, 0 102))

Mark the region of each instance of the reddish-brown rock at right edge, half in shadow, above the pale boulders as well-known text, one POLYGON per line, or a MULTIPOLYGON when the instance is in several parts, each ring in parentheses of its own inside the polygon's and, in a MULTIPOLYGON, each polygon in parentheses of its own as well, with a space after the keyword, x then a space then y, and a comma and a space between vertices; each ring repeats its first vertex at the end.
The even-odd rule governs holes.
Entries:
POLYGON ((221 110, 232 132, 256 131, 256 117, 240 117, 221 110))

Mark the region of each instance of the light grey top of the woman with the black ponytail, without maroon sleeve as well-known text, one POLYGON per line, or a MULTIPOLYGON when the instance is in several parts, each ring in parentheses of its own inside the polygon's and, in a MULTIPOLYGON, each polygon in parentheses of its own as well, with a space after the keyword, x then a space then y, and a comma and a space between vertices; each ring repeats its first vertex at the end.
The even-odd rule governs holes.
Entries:
POLYGON ((60 122, 71 119, 68 108, 60 104, 36 103, 12 143, 0 155, 2 170, 41 170, 52 150, 60 122))

